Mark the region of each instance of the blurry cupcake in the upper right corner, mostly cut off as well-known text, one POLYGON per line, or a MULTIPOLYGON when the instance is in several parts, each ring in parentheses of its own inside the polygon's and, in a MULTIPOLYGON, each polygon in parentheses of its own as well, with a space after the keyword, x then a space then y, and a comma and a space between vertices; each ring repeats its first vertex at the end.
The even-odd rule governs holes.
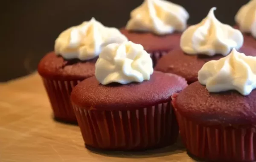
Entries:
POLYGON ((236 14, 236 28, 244 35, 244 44, 256 48, 256 25, 255 14, 256 0, 250 0, 242 6, 236 14))

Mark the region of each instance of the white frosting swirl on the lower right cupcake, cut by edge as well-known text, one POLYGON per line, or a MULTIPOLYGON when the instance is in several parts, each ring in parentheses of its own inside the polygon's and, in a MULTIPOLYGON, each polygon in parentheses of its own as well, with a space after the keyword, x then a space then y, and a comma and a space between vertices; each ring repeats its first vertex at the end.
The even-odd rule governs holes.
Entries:
POLYGON ((233 48, 228 56, 204 64, 198 81, 209 92, 236 90, 249 95, 256 88, 256 57, 245 56, 233 48))

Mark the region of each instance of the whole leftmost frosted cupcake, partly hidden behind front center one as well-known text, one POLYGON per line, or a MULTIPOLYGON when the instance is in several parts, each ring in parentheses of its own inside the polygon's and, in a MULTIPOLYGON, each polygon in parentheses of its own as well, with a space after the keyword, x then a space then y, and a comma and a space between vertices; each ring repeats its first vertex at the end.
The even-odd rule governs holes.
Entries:
POLYGON ((102 47, 127 41, 116 28, 103 26, 92 18, 63 31, 55 41, 55 51, 47 53, 38 64, 56 120, 76 123, 70 103, 73 87, 95 73, 95 63, 102 47))

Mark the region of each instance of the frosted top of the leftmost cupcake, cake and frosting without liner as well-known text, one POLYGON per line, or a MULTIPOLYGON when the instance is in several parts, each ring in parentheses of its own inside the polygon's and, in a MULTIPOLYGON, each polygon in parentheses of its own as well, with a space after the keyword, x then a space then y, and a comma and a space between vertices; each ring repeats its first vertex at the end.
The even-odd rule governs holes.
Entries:
POLYGON ((103 26, 92 18, 68 28, 55 40, 55 51, 38 64, 38 73, 57 80, 82 80, 95 73, 95 63, 102 48, 111 43, 126 42, 116 28, 103 26))

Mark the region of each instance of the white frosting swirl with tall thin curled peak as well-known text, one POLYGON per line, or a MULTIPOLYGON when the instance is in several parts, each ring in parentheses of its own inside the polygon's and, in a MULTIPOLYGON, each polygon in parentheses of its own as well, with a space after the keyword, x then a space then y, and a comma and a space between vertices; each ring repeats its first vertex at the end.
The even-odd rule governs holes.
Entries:
POLYGON ((227 56, 233 48, 238 50, 243 45, 244 37, 241 32, 219 22, 214 15, 215 9, 212 8, 199 24, 192 25, 183 32, 180 47, 185 53, 227 56))

